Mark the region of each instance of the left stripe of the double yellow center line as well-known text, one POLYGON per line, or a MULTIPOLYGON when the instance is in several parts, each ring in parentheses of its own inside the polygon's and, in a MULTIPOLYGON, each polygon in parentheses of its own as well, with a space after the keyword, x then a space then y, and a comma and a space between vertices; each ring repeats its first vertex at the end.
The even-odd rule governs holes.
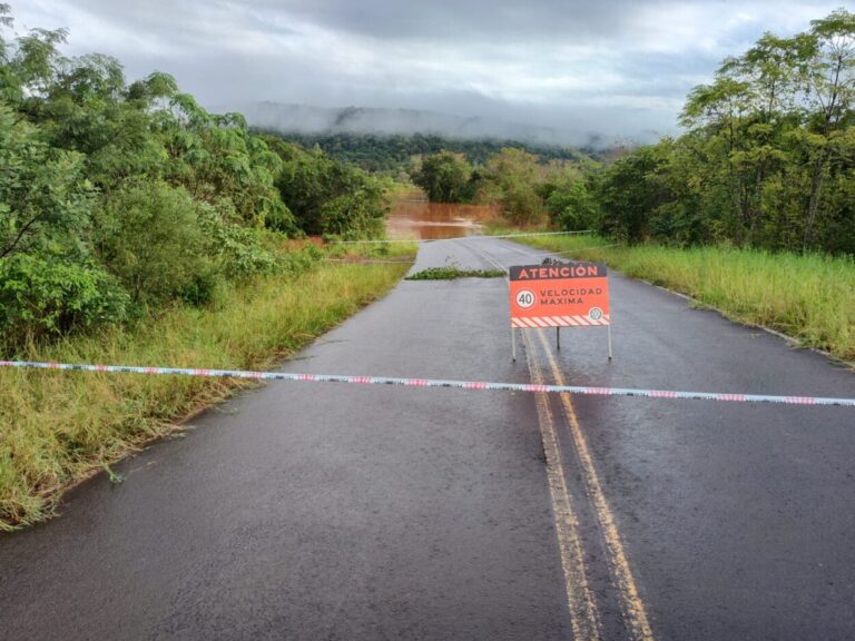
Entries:
MULTIPOLYGON (((533 357, 534 351, 531 349, 530 339, 524 334, 523 341, 527 343, 527 354, 532 355, 529 359, 531 381, 535 385, 542 385, 543 374, 540 364, 533 357)), ((543 453, 547 456, 547 480, 552 496, 552 511, 556 515, 556 534, 561 554, 561 568, 564 572, 564 588, 567 589, 573 639, 574 641, 596 641, 601 637, 600 617, 597 602, 588 585, 584 552, 579 536, 579 520, 573 511, 570 491, 567 487, 567 476, 561 462, 552 410, 546 393, 535 394, 534 397, 543 453)))

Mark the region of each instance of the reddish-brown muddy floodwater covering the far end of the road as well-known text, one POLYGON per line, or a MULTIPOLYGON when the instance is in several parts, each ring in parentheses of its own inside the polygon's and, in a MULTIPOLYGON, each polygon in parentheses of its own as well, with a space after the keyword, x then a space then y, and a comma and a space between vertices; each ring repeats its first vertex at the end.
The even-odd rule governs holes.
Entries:
POLYGON ((399 195, 386 218, 390 238, 434 240, 480 234, 497 209, 491 205, 429 203, 421 191, 399 195))

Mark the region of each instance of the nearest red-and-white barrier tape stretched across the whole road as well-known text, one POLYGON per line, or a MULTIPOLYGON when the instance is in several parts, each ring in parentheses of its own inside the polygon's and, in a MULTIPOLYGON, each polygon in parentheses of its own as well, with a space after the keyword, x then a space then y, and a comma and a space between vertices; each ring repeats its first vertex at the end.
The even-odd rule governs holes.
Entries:
POLYGON ((124 374, 160 374, 205 376, 214 378, 250 378, 255 381, 295 381, 308 383, 353 383, 356 385, 401 385, 404 387, 454 387, 459 389, 492 389, 500 392, 569 393, 591 396, 641 396, 726 403, 777 403, 779 405, 825 405, 855 407, 855 398, 820 396, 769 396, 766 394, 723 394, 717 392, 675 392, 669 389, 632 389, 622 387, 583 387, 578 385, 533 385, 525 383, 488 383, 478 381, 443 381, 435 378, 393 378, 389 376, 345 376, 336 374, 293 374, 288 372, 253 372, 245 369, 191 369, 184 367, 136 367, 131 365, 82 365, 72 363, 40 363, 35 361, 0 361, 0 367, 22 369, 65 369, 75 372, 114 372, 124 374))

